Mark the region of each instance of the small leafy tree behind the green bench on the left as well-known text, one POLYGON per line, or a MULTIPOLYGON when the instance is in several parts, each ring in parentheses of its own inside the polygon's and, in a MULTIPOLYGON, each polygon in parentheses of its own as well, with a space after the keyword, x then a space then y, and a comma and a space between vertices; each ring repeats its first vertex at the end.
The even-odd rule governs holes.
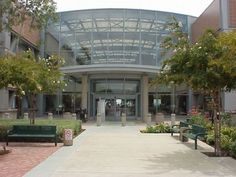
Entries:
POLYGON ((57 56, 37 59, 31 51, 0 58, 0 88, 10 85, 16 89, 17 96, 26 96, 31 123, 34 124, 36 95, 54 93, 64 86, 59 70, 63 63, 57 56))

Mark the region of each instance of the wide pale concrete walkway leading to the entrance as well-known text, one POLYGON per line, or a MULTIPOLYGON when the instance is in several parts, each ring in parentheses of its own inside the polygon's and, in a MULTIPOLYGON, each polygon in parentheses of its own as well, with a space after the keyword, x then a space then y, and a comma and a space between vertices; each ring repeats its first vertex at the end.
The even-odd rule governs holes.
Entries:
POLYGON ((86 125, 73 146, 62 147, 24 177, 236 177, 236 160, 208 157, 200 143, 170 134, 142 134, 144 124, 86 125))

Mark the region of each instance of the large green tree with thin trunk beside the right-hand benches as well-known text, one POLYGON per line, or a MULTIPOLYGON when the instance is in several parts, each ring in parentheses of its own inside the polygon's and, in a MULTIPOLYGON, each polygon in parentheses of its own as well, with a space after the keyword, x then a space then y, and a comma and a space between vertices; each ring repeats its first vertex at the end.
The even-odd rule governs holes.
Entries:
POLYGON ((185 83, 193 90, 212 98, 215 128, 215 153, 220 155, 220 94, 236 88, 235 32, 207 30, 195 44, 183 33, 174 19, 167 25, 170 36, 162 43, 163 54, 169 56, 154 83, 185 83), (233 38, 234 37, 234 38, 233 38))

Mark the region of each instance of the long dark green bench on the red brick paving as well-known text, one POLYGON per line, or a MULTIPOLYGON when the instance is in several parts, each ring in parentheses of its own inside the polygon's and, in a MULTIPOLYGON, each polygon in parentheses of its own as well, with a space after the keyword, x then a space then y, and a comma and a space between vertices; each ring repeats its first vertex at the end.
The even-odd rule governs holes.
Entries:
POLYGON ((57 128, 55 125, 13 125, 7 132, 6 145, 9 139, 51 139, 57 146, 57 128))

